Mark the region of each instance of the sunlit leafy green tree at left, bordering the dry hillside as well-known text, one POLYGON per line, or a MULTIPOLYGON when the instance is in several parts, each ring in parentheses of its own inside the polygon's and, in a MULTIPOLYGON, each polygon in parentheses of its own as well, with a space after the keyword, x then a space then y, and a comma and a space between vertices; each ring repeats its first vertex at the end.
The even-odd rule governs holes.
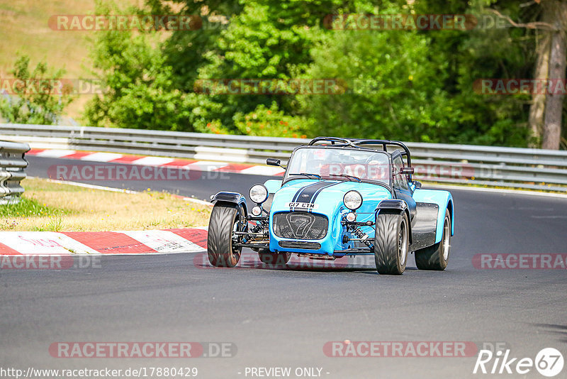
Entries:
MULTIPOLYGON (((111 6, 99 4, 98 14, 111 6)), ((138 10, 139 11, 139 10, 138 10)), ((119 12, 119 11, 116 11, 119 12)), ((94 41, 94 73, 106 87, 86 105, 93 126, 193 131, 186 94, 160 49, 160 31, 103 31, 94 41)))

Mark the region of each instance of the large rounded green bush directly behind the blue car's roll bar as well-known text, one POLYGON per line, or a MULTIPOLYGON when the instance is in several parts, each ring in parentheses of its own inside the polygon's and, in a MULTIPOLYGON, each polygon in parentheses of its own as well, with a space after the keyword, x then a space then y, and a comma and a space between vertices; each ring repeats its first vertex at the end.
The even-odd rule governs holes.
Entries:
MULTIPOLYGON (((399 14, 397 6, 381 13, 399 14)), ((306 75, 339 78, 344 94, 302 98, 313 135, 439 141, 459 111, 443 89, 447 65, 430 53, 430 38, 415 31, 328 33, 313 48, 306 75)))

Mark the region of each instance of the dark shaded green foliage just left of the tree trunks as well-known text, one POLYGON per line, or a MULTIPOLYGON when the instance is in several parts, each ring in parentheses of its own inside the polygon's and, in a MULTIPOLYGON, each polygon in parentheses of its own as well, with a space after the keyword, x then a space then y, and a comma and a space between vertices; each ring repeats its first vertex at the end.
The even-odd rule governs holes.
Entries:
MULTIPOLYGON (((496 22, 497 17, 485 11, 488 1, 491 0, 416 4, 417 12, 473 14, 478 21, 471 30, 431 33, 434 54, 447 62, 444 89, 454 107, 460 110, 447 142, 526 146, 529 95, 481 94, 474 88, 475 82, 483 78, 532 77, 536 40, 533 31, 496 22)), ((524 19, 531 18, 534 11, 532 6, 520 7, 513 0, 500 0, 497 6, 513 17, 524 19)))

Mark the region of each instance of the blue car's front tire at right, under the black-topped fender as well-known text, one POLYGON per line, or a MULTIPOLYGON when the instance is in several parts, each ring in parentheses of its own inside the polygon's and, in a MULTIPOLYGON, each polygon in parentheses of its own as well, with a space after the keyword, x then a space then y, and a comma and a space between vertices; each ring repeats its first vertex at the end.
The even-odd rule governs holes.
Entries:
POLYGON ((380 274, 402 275, 408 262, 410 235, 408 216, 378 214, 374 235, 374 260, 380 274))

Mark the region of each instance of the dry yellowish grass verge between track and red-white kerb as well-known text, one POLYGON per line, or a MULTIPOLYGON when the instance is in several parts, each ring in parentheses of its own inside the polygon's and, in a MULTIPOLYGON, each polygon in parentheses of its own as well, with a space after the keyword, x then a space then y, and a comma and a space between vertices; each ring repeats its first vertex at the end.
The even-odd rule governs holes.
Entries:
POLYGON ((113 231, 208 224, 210 207, 163 192, 127 194, 26 179, 21 202, 0 206, 0 231, 113 231))

